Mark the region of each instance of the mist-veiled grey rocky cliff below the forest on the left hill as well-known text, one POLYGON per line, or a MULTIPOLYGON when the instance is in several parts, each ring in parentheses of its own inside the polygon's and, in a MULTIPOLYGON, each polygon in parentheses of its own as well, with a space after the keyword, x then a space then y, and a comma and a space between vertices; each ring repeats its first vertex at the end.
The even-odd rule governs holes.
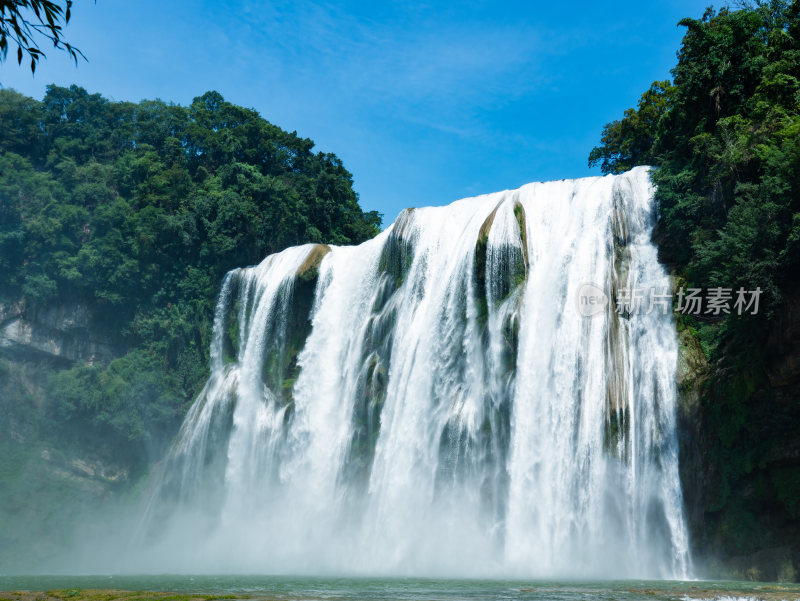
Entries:
POLYGON ((0 300, 0 566, 30 570, 63 552, 82 517, 131 484, 130 466, 80 434, 64 437, 49 409, 50 375, 108 362, 120 349, 81 303, 0 300), (108 338, 108 337, 106 337, 108 338))

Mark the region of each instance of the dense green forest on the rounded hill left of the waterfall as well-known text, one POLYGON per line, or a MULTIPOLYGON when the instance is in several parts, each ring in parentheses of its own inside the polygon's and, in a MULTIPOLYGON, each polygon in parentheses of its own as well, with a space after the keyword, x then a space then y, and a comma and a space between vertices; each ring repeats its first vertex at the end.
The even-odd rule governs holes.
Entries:
MULTIPOLYGON (((114 349, 110 363, 42 376, 57 401, 39 403, 43 435, 146 461, 207 377, 226 271, 379 231, 342 162, 313 146, 217 92, 184 107, 76 86, 41 101, 0 90, 0 302, 79 303, 114 349)), ((3 396, 6 413, 30 411, 3 396)))

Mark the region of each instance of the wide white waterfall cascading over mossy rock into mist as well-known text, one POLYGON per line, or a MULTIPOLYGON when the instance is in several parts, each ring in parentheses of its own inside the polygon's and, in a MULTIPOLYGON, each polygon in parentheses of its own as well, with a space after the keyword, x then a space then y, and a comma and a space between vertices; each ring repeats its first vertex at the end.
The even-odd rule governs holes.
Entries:
POLYGON ((685 578, 646 169, 406 210, 228 274, 143 520, 161 570, 685 578))

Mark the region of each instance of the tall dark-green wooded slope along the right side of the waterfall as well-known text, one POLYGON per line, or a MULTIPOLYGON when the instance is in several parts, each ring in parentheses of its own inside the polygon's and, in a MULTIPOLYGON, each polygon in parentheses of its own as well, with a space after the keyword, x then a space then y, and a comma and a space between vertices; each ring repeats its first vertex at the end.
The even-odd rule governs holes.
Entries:
POLYGON ((684 350, 702 352, 681 461, 696 545, 770 550, 760 576, 793 579, 770 564, 800 565, 800 3, 680 25, 672 80, 606 125, 589 163, 656 167, 655 237, 677 283, 763 291, 757 315, 678 315, 684 350))

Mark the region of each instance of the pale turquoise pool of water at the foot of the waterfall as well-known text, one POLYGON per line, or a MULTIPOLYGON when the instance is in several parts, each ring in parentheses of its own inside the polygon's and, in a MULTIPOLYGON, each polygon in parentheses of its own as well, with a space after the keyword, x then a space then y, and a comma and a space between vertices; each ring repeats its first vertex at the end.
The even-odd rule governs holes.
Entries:
POLYGON ((0 576, 0 590, 126 589, 278 600, 799 600, 800 585, 752 582, 500 581, 274 576, 0 576))

